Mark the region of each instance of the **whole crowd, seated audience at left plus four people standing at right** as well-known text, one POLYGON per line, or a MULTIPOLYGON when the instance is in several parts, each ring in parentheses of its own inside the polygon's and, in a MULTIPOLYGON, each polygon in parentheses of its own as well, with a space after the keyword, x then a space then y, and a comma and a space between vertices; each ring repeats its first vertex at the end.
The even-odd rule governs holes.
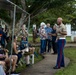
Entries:
MULTIPOLYGON (((7 36, 7 33, 4 32, 2 26, 0 25, 0 65, 6 67, 4 70, 5 73, 10 71, 10 63, 12 66, 11 72, 16 70, 18 63, 21 57, 25 52, 33 52, 35 48, 28 43, 28 33, 22 27, 23 35, 21 37, 20 45, 17 47, 17 37, 13 36, 14 41, 12 42, 12 36, 7 36), (12 50, 11 50, 12 49, 12 50)), ((64 46, 66 44, 66 27, 63 24, 63 19, 59 17, 57 19, 57 24, 53 27, 50 26, 50 23, 45 24, 42 22, 39 28, 40 35, 40 54, 44 55, 46 52, 51 52, 53 49, 53 54, 57 54, 57 63, 54 69, 59 69, 65 67, 64 63, 64 46)), ((34 64, 34 54, 31 54, 33 57, 32 64, 34 64)), ((26 56, 26 64, 30 65, 30 56, 26 56)), ((0 66, 0 67, 1 67, 0 66)))

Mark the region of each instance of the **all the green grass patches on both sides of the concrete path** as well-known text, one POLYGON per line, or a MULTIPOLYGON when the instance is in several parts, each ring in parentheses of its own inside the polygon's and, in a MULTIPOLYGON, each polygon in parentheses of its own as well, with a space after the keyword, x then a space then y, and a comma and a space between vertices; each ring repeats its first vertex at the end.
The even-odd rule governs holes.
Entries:
MULTIPOLYGON (((20 40, 20 39, 18 39, 20 40)), ((32 37, 29 37, 29 42, 33 42, 32 37)), ((66 37, 67 42, 71 42, 71 37, 66 37)), ((40 42, 40 38, 38 37, 36 39, 36 42, 40 42)), ((39 50, 39 48, 37 48, 37 51, 39 50)), ((66 48, 65 49, 65 55, 70 58, 71 62, 69 64, 69 66, 65 69, 59 70, 55 75, 75 75, 76 74, 76 50, 75 48, 66 48)), ((42 60, 42 56, 40 56, 38 54, 38 58, 35 57, 35 63, 39 62, 42 60)), ((23 64, 23 66, 18 66, 18 68, 16 69, 16 72, 21 72, 24 69, 26 69, 26 64, 23 64)))

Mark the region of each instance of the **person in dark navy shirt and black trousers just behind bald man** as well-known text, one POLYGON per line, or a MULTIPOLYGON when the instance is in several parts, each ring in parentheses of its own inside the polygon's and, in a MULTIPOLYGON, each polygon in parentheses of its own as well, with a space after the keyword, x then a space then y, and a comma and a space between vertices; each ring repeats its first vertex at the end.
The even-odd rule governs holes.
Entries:
MULTIPOLYGON (((53 26, 52 34, 56 34, 56 25, 53 26)), ((52 48, 53 48, 53 54, 57 54, 57 43, 56 43, 56 37, 52 36, 52 48)))

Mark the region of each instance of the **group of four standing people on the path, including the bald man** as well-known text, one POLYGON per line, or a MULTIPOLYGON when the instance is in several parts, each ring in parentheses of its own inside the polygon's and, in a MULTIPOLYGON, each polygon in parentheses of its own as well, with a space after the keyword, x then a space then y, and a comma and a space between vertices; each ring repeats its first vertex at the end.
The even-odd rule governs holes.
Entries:
POLYGON ((57 19, 57 24, 53 27, 50 23, 45 24, 42 22, 39 29, 40 34, 40 53, 43 55, 46 52, 53 49, 53 54, 57 54, 57 63, 54 69, 60 69, 65 67, 64 63, 64 46, 66 44, 66 27, 63 24, 63 19, 59 17, 57 19))

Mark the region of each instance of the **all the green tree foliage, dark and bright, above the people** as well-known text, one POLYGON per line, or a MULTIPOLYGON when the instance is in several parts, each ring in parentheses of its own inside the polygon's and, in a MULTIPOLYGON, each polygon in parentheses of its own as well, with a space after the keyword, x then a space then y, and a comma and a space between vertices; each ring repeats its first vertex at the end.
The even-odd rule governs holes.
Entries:
MULTIPOLYGON (((11 1, 22 7, 21 0, 11 1)), ((65 23, 75 22, 75 3, 75 0, 25 0, 25 8, 31 15, 31 25, 33 23, 39 25, 42 21, 53 25, 57 17, 62 17, 65 23)), ((5 10, 0 12, 1 18, 7 22, 11 22, 9 12, 5 10)), ((21 13, 17 13, 16 20, 18 21, 20 17, 21 13)))

